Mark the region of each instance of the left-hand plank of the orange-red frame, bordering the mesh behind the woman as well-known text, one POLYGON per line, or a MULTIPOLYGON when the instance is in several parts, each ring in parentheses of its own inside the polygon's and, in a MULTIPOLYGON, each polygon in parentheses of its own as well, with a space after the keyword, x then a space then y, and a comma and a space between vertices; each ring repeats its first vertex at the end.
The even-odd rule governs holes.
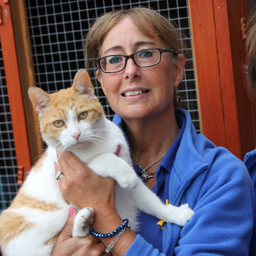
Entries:
POLYGON ((192 43, 202 132, 218 146, 228 146, 220 85, 212 0, 189 1, 192 43))

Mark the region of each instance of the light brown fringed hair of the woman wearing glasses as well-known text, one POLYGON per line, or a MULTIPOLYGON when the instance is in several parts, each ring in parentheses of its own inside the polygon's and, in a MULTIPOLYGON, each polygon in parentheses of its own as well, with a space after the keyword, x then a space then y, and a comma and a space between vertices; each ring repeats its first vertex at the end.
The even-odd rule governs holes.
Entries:
MULTIPOLYGON (((175 49, 182 53, 182 39, 175 25, 162 15, 146 7, 134 7, 125 10, 114 10, 97 19, 85 39, 84 55, 86 68, 93 68, 95 59, 100 57, 101 46, 107 33, 120 20, 129 17, 146 36, 158 35, 168 49, 175 49)), ((176 56, 171 56, 175 63, 176 56)))

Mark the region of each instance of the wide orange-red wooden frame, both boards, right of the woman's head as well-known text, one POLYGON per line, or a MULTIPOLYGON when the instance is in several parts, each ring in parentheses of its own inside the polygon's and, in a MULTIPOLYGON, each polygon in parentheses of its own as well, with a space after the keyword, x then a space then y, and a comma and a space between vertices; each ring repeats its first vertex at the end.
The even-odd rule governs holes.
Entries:
POLYGON ((255 147, 241 23, 248 16, 247 1, 189 0, 202 132, 241 159, 255 147))

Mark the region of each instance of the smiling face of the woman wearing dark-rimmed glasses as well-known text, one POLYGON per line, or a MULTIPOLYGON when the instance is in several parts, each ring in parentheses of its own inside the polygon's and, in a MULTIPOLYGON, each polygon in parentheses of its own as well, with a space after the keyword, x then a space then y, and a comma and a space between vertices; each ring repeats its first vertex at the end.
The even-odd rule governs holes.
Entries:
MULTIPOLYGON (((147 37, 131 19, 125 18, 105 36, 101 57, 166 47, 159 36, 147 37)), ((141 68, 128 59, 121 72, 103 73, 97 70, 96 75, 110 107, 124 120, 154 117, 173 110, 173 88, 178 86, 184 75, 185 60, 182 55, 179 59, 176 67, 168 53, 163 52, 160 63, 155 66, 141 68)))

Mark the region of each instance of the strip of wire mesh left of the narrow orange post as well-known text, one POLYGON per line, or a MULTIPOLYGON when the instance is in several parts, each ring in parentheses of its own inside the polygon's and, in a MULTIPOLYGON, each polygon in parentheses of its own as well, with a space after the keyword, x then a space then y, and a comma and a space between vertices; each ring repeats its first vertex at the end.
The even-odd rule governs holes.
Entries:
POLYGON ((6 209, 7 205, 14 198, 18 185, 14 135, 12 121, 10 120, 10 107, 1 45, 0 72, 0 209, 3 210, 6 209))

